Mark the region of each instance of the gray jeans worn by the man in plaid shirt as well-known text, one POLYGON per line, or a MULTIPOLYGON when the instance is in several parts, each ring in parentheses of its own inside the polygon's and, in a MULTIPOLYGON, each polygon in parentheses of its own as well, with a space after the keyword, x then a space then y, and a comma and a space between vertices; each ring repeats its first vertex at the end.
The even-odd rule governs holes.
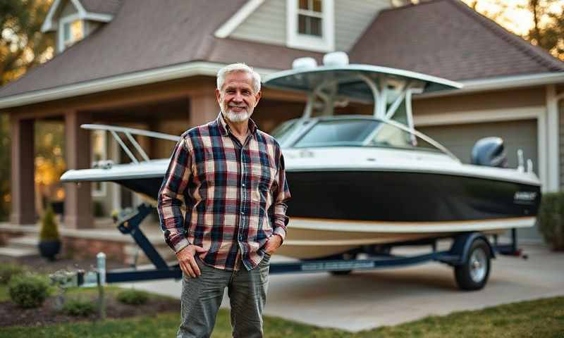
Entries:
POLYGON ((202 271, 197 278, 183 276, 177 338, 209 337, 214 330, 216 314, 227 287, 231 304, 233 337, 262 337, 262 309, 266 303, 270 256, 252 270, 240 266, 238 271, 213 268, 196 262, 202 271))

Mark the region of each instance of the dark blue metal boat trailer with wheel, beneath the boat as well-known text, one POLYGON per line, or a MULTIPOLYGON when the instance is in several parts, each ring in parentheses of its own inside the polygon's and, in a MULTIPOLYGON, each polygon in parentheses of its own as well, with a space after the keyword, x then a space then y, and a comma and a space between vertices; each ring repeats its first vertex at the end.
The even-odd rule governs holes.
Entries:
MULTIPOLYGON (((133 214, 123 215, 116 220, 118 230, 123 234, 130 234, 137 245, 145 252, 153 269, 137 270, 117 269, 106 271, 105 254, 98 253, 97 268, 92 271, 78 270, 76 272, 55 273, 51 279, 60 287, 92 287, 106 283, 136 282, 142 280, 162 280, 182 278, 182 270, 178 264, 168 265, 164 258, 157 252, 149 239, 140 229, 140 224, 154 211, 154 206, 141 204, 133 214)), ((491 243, 486 235, 480 232, 465 232, 453 238, 453 244, 446 251, 437 250, 439 238, 402 242, 376 246, 365 246, 355 251, 342 255, 302 260, 288 263, 271 263, 270 274, 283 273, 319 273, 329 272, 333 275, 346 275, 353 270, 376 270, 383 268, 400 268, 429 261, 438 261, 452 266, 460 289, 482 289, 486 284, 490 270, 490 258, 495 258, 496 253, 510 256, 522 255, 517 248, 517 232, 511 230, 512 241, 510 244, 499 244, 497 235, 491 243), (431 246, 431 252, 415 256, 397 256, 391 254, 391 249, 396 246, 431 246), (362 259, 357 259, 362 256, 362 259)))

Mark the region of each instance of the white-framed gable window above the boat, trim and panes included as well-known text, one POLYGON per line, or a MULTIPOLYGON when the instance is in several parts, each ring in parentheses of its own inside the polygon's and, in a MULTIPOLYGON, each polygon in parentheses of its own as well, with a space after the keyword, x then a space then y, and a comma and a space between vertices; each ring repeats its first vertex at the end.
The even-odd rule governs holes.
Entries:
POLYGON ((286 6, 288 47, 335 49, 333 0, 286 0, 286 6))

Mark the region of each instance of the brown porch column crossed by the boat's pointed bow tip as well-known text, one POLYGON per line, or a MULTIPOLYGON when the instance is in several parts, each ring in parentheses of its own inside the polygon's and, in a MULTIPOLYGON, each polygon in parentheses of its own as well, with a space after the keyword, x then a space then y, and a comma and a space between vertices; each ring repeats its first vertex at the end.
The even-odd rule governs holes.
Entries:
MULTIPOLYGON (((90 114, 65 112, 65 148, 67 169, 90 168, 90 132, 80 128, 91 123, 90 114)), ((92 187, 89 182, 65 184, 65 226, 75 229, 93 227, 92 187)))

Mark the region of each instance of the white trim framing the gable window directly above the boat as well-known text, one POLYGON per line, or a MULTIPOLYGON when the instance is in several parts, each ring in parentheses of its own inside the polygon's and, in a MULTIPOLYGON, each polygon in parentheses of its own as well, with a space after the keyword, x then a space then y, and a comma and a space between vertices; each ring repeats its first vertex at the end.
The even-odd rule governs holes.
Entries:
POLYGON ((286 46, 309 51, 335 50, 335 7, 333 0, 321 0, 323 36, 298 33, 298 0, 286 0, 286 46))

